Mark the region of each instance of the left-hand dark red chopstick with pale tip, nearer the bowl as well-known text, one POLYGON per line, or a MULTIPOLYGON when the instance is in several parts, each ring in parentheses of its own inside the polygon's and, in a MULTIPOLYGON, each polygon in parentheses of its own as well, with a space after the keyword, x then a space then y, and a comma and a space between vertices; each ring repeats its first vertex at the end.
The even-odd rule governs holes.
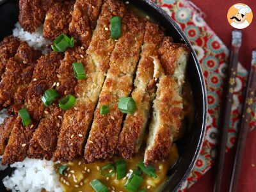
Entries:
POLYGON ((241 47, 242 42, 242 31, 233 30, 232 31, 232 47, 230 50, 230 61, 228 65, 228 74, 227 74, 227 81, 225 84, 225 90, 223 98, 223 115, 221 115, 221 140, 220 145, 218 145, 218 159, 216 175, 215 175, 215 183, 214 183, 214 192, 220 192, 221 189, 221 179, 222 179, 222 172, 223 172, 223 165, 225 160, 225 152, 226 152, 226 145, 227 145, 227 138, 228 138, 228 127, 230 122, 231 116, 231 108, 232 108, 232 101, 233 101, 233 92, 235 87, 235 80, 236 80, 236 72, 237 72, 237 65, 238 65, 238 56, 239 56, 239 49, 241 47))

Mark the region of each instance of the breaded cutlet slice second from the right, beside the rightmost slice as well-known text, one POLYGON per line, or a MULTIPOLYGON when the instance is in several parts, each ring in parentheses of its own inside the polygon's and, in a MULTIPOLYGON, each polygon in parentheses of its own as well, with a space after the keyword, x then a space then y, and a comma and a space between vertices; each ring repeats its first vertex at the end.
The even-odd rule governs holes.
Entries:
POLYGON ((157 24, 147 22, 141 47, 132 98, 136 102, 136 113, 127 114, 122 132, 118 139, 118 152, 124 158, 131 158, 140 149, 145 134, 145 127, 152 106, 152 97, 156 92, 156 82, 161 68, 158 48, 164 33, 157 24))

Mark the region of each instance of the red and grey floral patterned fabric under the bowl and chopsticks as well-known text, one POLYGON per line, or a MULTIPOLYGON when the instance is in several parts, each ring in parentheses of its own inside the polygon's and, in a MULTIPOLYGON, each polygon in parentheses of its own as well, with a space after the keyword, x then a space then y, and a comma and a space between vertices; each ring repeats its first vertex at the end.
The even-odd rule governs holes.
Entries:
MULTIPOLYGON (((193 172, 184 182, 180 191, 186 191, 202 175, 204 175, 214 163, 216 156, 216 142, 218 135, 218 124, 220 123, 220 98, 223 95, 223 83, 225 82, 225 71, 227 68, 228 49, 220 38, 207 26, 204 19, 196 12, 187 0, 158 0, 154 1, 166 11, 178 26, 188 36, 195 49, 198 60, 201 63, 205 84, 207 86, 208 115, 205 140, 196 160, 193 172)), ((234 104, 232 106, 232 119, 228 130, 227 151, 234 146, 236 140, 237 125, 243 102, 242 90, 245 86, 247 71, 239 64, 236 88, 234 89, 234 104)), ((256 102, 256 100, 255 100, 256 102)), ((256 104, 253 105, 256 111, 256 104)), ((252 112, 250 124, 255 126, 256 113, 252 112), (254 119, 253 119, 254 118, 254 119)))

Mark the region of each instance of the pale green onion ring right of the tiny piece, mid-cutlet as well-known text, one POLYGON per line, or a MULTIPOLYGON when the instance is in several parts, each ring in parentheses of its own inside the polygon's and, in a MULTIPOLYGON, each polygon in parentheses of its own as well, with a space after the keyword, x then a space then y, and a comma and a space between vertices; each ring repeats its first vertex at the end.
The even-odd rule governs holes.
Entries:
POLYGON ((118 109, 122 113, 134 113, 136 111, 136 102, 132 97, 120 97, 118 109))

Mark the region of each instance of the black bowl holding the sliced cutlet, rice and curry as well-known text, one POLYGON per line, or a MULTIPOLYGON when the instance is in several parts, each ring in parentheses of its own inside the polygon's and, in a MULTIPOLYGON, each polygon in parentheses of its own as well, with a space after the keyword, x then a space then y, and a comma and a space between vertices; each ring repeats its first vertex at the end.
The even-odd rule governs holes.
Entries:
MULTIPOLYGON (((193 98, 195 103, 195 118, 191 129, 187 129, 184 138, 178 144, 179 160, 168 172, 168 179, 162 186, 163 191, 177 191, 182 183, 186 180, 191 172, 196 157, 202 146, 205 132, 205 121, 207 114, 207 99, 204 84, 204 77, 200 64, 196 59, 195 51, 193 50, 188 38, 181 31, 179 26, 170 18, 170 16, 159 8, 156 4, 149 0, 129 0, 136 7, 148 13, 153 17, 163 28, 166 29, 166 34, 173 37, 174 42, 186 42, 191 49, 191 55, 188 63, 187 76, 191 88, 193 90, 193 98)), ((0 6, 0 40, 6 35, 12 34, 15 22, 19 15, 19 2, 6 1, 0 6)), ((10 175, 12 169, 8 168, 0 172, 0 179, 6 175, 10 175)), ((3 184, 0 184, 0 191, 6 191, 3 184)))

